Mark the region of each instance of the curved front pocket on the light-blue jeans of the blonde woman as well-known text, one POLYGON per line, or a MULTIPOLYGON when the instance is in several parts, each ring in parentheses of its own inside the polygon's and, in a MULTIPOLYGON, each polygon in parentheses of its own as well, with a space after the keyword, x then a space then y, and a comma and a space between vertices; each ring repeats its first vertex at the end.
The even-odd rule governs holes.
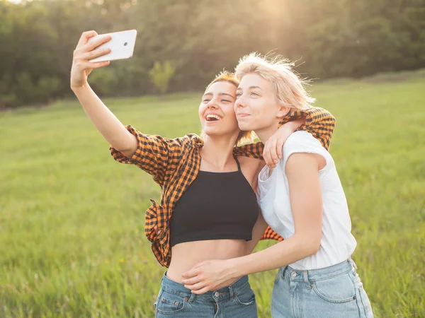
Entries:
POLYGON ((356 300, 356 290, 347 273, 312 281, 311 285, 314 293, 327 302, 343 303, 356 300))

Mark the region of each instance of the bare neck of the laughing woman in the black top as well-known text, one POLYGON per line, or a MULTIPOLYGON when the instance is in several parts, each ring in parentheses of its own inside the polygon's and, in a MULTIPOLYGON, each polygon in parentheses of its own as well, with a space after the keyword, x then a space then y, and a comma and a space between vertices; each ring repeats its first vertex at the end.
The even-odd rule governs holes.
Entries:
POLYGON ((234 138, 205 136, 204 146, 200 150, 201 158, 217 168, 224 169, 229 163, 233 163, 236 138, 237 136, 234 138))

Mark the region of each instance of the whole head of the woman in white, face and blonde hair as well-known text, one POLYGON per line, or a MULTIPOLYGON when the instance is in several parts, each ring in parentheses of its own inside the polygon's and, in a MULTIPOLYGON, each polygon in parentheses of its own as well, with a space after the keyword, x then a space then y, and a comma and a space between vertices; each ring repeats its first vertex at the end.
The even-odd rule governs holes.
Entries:
POLYGON ((235 68, 240 81, 234 111, 239 128, 252 129, 266 141, 291 110, 307 110, 314 98, 305 90, 305 79, 283 57, 263 57, 255 52, 242 57, 235 68))

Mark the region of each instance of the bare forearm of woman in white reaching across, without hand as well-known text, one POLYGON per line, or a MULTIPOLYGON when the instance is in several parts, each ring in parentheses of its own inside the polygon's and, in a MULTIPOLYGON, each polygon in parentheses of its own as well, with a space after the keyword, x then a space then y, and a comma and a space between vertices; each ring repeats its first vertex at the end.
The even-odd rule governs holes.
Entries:
POLYGON ((293 235, 260 252, 229 259, 227 276, 237 278, 251 273, 270 271, 315 254, 318 249, 317 242, 306 240, 305 237, 308 236, 293 235))

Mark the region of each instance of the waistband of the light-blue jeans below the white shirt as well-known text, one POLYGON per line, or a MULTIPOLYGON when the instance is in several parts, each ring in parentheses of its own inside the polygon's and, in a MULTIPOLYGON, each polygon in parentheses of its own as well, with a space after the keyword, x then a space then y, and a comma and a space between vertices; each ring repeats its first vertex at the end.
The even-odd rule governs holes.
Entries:
POLYGON ((348 271, 356 271, 357 266, 353 259, 348 258, 339 264, 324 267, 323 269, 300 270, 293 269, 291 266, 283 266, 279 269, 278 275, 285 277, 288 275, 291 281, 320 281, 321 279, 339 276, 348 271))

